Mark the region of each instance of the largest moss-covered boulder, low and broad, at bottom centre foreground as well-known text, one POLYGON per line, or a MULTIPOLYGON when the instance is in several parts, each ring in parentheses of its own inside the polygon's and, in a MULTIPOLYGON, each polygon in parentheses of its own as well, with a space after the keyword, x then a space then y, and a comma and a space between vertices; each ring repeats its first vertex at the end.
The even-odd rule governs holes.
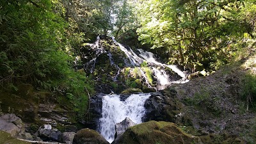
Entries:
POLYGON ((202 143, 200 138, 183 132, 171 122, 150 121, 127 129, 114 144, 202 143))

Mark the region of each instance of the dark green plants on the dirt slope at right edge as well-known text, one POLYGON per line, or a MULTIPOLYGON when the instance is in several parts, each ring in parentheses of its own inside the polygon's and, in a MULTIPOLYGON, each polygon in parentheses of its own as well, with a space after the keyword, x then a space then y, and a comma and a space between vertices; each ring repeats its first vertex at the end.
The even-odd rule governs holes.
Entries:
POLYGON ((241 97, 246 101, 246 110, 256 111, 256 76, 246 75, 243 79, 241 97))

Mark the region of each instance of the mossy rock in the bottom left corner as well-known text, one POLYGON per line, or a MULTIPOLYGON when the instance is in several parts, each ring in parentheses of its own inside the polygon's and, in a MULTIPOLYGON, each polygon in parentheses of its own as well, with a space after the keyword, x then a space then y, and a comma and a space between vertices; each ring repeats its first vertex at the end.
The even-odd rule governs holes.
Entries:
MULTIPOLYGON (((8 132, 0 131, 0 143, 3 144, 29 144, 26 141, 20 141, 11 136, 8 132)), ((31 143, 30 143, 31 144, 31 143)))

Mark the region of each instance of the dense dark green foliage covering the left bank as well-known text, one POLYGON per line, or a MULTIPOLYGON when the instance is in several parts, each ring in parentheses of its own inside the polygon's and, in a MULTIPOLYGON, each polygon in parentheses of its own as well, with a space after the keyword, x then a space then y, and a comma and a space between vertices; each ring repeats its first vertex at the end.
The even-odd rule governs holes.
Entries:
POLYGON ((0 3, 1 86, 17 91, 17 84, 29 83, 55 92, 60 99, 65 95, 82 118, 88 93, 94 93, 93 81, 72 68, 85 34, 76 31, 76 21, 63 19, 65 4, 58 0, 0 3))

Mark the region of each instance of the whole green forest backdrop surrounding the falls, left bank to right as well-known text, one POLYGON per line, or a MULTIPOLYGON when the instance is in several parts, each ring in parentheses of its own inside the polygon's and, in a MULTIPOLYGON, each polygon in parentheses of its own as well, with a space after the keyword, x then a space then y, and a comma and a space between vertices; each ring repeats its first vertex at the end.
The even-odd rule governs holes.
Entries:
MULTIPOLYGON (((0 84, 63 95, 83 116, 94 81, 74 61, 98 35, 193 73, 235 60, 256 36, 255 0, 0 0, 0 84)), ((255 44, 255 43, 254 43, 255 44)), ((79 60, 77 60, 79 62, 79 60)))

